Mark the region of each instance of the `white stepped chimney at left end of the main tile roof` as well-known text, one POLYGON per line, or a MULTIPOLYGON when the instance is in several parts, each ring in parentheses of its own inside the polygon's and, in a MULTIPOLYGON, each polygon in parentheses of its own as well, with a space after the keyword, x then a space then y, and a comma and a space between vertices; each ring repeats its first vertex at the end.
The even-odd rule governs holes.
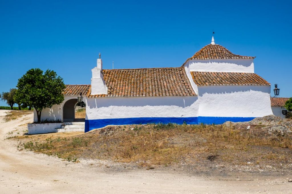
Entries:
POLYGON ((107 86, 105 85, 105 80, 103 79, 102 60, 100 58, 100 54, 97 59, 97 67, 94 67, 91 71, 91 95, 107 94, 107 86))

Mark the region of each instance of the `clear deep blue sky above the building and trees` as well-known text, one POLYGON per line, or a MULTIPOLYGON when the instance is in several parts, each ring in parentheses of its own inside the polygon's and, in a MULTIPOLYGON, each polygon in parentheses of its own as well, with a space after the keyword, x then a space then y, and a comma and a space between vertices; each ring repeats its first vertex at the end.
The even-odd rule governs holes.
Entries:
MULTIPOLYGON (((256 56, 255 72, 292 96, 291 1, 0 1, 0 92, 31 68, 65 84, 104 69, 179 67, 211 42, 256 56)), ((0 105, 4 105, 0 102, 0 105)))

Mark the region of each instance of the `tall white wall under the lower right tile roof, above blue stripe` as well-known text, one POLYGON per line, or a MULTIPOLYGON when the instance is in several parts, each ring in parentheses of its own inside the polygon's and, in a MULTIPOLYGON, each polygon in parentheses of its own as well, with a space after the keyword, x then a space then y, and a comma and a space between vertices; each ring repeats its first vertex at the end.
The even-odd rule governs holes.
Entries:
POLYGON ((199 116, 262 117, 272 114, 270 86, 199 86, 199 116))

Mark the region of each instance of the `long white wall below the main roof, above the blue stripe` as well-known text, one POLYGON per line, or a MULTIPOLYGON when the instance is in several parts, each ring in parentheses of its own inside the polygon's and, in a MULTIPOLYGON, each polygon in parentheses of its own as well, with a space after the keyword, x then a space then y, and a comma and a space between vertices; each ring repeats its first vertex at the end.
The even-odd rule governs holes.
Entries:
POLYGON ((197 99, 197 96, 86 98, 86 120, 197 117, 199 109, 197 99))

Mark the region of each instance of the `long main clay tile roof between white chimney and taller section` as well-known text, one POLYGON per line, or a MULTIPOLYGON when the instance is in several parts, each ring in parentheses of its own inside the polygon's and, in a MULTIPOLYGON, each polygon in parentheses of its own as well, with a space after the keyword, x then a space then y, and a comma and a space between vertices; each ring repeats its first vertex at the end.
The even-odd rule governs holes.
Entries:
POLYGON ((103 70, 107 94, 88 97, 195 96, 185 68, 103 70))

